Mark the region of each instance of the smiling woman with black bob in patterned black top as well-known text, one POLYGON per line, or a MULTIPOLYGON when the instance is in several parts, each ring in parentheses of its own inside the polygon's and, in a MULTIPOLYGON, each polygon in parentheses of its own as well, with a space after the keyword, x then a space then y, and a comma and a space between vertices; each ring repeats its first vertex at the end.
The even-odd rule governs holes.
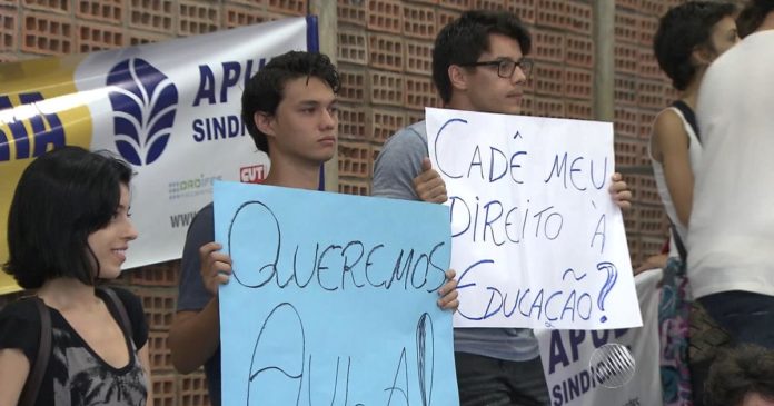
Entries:
POLYGON ((127 164, 79 147, 48 152, 22 174, 3 269, 37 297, 0 313, 0 405, 152 403, 142 305, 127 290, 96 288, 120 275, 137 238, 131 175, 127 164), (41 368, 39 356, 48 358, 41 368))

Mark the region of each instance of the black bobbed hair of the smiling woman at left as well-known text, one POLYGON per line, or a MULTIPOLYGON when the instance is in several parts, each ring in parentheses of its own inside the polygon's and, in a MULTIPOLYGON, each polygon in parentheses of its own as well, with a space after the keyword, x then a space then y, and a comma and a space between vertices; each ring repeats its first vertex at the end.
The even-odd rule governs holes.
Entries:
POLYGON ((26 289, 58 277, 93 285, 99 261, 89 235, 108 225, 120 187, 129 186, 131 176, 122 160, 80 147, 62 147, 32 161, 8 214, 6 273, 26 289))

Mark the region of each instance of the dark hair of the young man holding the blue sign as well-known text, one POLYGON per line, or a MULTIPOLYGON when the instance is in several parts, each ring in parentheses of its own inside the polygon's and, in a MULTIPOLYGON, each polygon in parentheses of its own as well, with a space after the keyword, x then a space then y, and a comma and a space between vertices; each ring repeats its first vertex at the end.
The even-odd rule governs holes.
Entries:
POLYGON ((256 112, 275 115, 277 106, 282 100, 285 85, 292 79, 306 77, 318 78, 328 83, 330 89, 338 93, 340 82, 336 67, 330 59, 316 52, 289 51, 272 58, 266 63, 250 81, 242 92, 242 122, 247 132, 252 137, 256 147, 269 154, 269 143, 266 135, 256 127, 256 112))

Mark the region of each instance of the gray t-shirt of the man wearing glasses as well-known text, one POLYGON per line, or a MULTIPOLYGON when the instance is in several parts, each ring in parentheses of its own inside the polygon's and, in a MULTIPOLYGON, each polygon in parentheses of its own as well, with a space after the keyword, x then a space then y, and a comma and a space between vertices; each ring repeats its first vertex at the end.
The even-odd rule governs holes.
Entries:
MULTIPOLYGON (((421 160, 427 156, 425 121, 393 135, 374 164, 373 195, 419 200, 413 180, 421 172, 421 160)), ((516 362, 539 356, 537 339, 528 328, 455 328, 454 349, 516 362)))

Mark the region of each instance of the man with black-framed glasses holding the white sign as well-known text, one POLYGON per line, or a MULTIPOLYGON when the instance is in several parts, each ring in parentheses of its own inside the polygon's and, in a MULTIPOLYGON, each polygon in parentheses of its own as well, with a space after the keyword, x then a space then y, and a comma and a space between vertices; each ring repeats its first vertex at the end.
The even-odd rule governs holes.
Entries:
MULTIPOLYGON (((467 11, 436 37, 433 80, 449 109, 516 115, 533 61, 532 40, 509 12, 467 11)), ((374 196, 419 200, 415 185, 433 176, 425 121, 396 132, 374 168, 374 196)), ((628 206, 631 192, 614 175, 611 192, 628 206)), ((444 185, 426 187, 445 188, 444 185)), ((445 196, 445 194, 444 194, 445 196)), ((524 328, 455 329, 455 360, 463 405, 547 405, 537 340, 524 328)))

